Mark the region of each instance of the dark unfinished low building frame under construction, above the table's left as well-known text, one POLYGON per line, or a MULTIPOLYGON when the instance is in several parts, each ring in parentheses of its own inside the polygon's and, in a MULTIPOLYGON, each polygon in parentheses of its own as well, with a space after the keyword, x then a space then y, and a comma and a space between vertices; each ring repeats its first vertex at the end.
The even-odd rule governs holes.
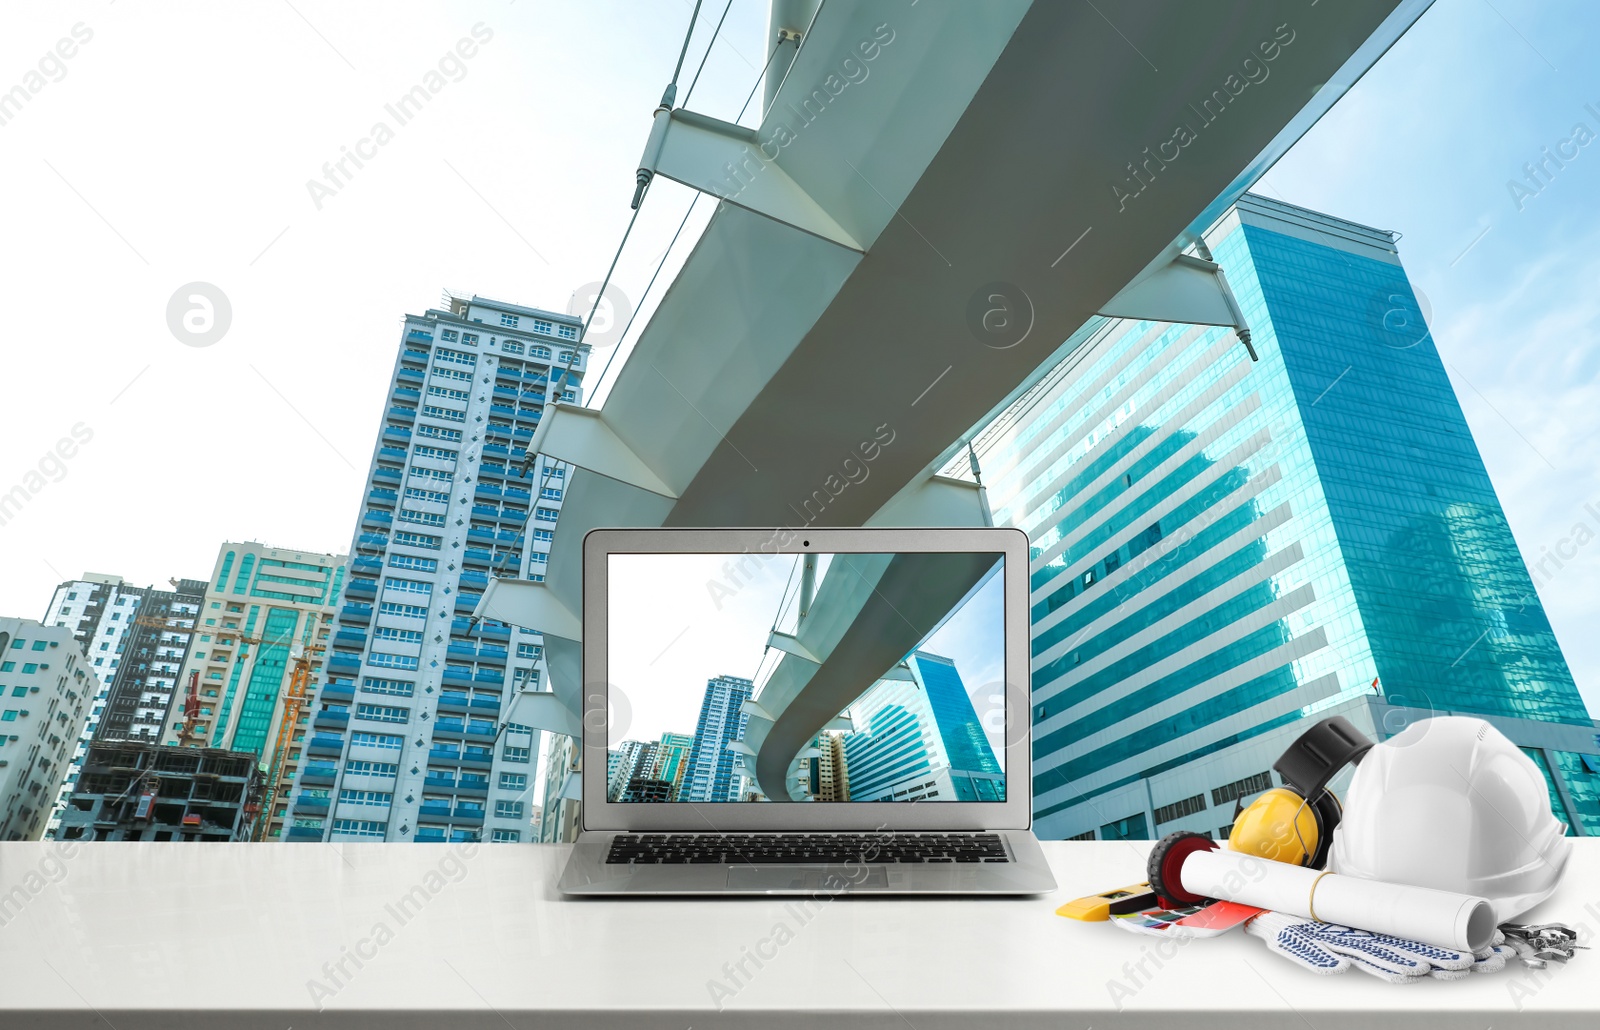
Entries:
POLYGON ((261 809, 251 752, 91 744, 58 840, 245 841, 261 809))

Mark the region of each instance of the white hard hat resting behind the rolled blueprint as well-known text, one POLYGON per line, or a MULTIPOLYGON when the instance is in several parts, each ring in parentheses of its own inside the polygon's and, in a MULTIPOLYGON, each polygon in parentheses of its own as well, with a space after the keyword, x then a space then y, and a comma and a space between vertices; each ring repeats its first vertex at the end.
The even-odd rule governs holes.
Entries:
POLYGON ((1507 923, 1555 891, 1565 833, 1533 761, 1486 721, 1448 715, 1366 752, 1328 868, 1485 897, 1507 923))

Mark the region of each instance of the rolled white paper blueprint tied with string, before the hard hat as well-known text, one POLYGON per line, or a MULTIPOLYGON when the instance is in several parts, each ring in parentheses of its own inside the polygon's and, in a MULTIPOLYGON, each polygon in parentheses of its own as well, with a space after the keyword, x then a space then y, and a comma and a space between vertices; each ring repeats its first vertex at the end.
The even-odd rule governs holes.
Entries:
POLYGON ((1494 936, 1494 908, 1482 897, 1341 876, 1224 848, 1187 856, 1179 878, 1192 894, 1440 948, 1478 952, 1494 936))

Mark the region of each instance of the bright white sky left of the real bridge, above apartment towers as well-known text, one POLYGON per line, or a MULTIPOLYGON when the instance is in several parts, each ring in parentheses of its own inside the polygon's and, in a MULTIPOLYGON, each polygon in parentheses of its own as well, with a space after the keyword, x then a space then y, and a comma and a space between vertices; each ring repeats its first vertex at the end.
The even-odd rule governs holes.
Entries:
MULTIPOLYGON (((93 440, 0 526, 0 613, 40 617, 85 569, 205 577, 224 539, 344 553, 402 315, 443 288, 566 310, 603 278, 691 6, 6 3, 0 90, 75 22, 93 40, 0 126, 0 493, 75 424, 93 440), (466 77, 318 211, 306 181, 392 125, 384 104, 477 22, 494 37, 466 77), (203 349, 165 315, 195 280, 232 302, 203 349)), ((722 8, 704 3, 680 102, 722 8)), ((734 117, 765 19, 765 2, 733 3, 694 109, 734 117)), ((690 197, 653 187, 613 280, 629 297, 690 197)))

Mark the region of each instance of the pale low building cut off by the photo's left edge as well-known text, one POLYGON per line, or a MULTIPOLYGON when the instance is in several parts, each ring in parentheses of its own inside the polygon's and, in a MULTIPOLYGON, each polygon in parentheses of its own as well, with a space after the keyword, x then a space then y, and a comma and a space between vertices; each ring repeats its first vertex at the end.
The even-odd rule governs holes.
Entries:
POLYGON ((98 688, 70 627, 0 619, 0 841, 43 836, 98 688))

